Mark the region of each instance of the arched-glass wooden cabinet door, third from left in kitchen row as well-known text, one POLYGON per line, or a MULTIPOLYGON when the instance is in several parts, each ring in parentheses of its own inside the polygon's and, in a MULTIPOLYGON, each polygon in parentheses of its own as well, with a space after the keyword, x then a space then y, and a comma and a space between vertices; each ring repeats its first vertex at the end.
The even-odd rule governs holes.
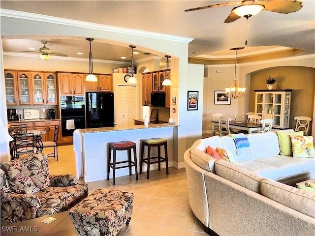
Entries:
POLYGON ((32 72, 32 90, 33 104, 44 104, 46 99, 46 89, 44 74, 40 72, 32 72))

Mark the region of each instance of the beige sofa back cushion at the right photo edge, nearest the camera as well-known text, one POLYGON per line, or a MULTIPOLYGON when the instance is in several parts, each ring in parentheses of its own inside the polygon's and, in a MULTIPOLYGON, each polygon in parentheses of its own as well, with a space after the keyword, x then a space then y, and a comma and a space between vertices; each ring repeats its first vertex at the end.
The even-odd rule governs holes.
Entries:
POLYGON ((286 207, 315 218, 315 194, 271 180, 260 182, 260 192, 286 207))

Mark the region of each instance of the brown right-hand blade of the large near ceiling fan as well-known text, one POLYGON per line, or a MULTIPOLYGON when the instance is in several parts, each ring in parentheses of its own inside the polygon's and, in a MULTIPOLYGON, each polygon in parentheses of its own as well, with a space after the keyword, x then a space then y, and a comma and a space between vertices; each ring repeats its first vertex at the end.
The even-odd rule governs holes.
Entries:
POLYGON ((269 1, 265 4, 265 10, 274 11, 278 13, 291 13, 298 11, 302 8, 302 2, 300 1, 291 1, 291 0, 283 0, 283 1, 269 1))

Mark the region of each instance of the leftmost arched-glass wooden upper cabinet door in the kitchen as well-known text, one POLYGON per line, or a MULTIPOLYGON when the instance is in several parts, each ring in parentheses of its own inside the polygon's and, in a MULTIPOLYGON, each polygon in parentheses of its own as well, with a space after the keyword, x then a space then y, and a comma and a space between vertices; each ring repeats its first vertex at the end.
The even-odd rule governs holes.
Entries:
POLYGON ((15 71, 4 71, 5 99, 7 105, 18 105, 18 81, 15 71))

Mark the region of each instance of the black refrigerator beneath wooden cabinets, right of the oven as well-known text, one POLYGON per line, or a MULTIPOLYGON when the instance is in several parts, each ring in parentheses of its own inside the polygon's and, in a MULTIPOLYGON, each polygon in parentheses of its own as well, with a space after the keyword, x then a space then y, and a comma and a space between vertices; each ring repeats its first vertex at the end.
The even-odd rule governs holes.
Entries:
POLYGON ((87 128, 114 127, 114 93, 86 92, 87 128))

